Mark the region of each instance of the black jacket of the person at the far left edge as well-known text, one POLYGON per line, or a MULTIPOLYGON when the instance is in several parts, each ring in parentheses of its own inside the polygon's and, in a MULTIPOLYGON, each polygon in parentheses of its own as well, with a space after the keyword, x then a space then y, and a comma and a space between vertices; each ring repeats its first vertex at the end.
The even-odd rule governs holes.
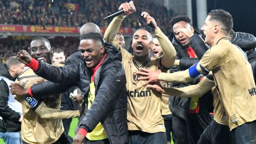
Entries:
MULTIPOLYGON (((0 66, 0 76, 15 81, 7 68, 0 66)), ((0 131, 1 132, 19 132, 21 131, 21 123, 19 122, 20 114, 12 110, 8 105, 9 100, 9 86, 4 80, 0 81, 0 131)))

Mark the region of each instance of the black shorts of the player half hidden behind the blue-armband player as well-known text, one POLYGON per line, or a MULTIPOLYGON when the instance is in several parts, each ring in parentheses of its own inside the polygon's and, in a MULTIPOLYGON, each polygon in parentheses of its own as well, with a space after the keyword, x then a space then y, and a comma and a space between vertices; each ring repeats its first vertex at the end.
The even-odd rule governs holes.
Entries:
POLYGON ((206 127, 197 144, 231 144, 231 134, 228 125, 222 125, 214 120, 206 127))

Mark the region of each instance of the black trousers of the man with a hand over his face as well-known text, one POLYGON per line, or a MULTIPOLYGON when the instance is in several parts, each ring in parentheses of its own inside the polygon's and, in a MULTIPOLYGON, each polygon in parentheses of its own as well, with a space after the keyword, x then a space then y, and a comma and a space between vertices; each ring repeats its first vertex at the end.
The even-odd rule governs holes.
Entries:
POLYGON ((173 136, 176 144, 196 144, 206 127, 211 123, 212 116, 204 111, 188 114, 187 121, 173 114, 173 136))

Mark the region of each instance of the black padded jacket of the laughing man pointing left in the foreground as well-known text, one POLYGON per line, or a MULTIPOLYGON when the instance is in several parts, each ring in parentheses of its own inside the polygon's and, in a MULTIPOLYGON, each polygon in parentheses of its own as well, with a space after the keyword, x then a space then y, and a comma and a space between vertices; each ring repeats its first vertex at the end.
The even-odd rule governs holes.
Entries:
MULTIPOLYGON (((127 126, 127 93, 126 78, 121 64, 121 53, 112 45, 105 44, 107 56, 95 73, 95 99, 89 110, 85 110, 85 116, 79 123, 80 127, 91 132, 101 122, 108 135, 110 143, 128 143, 127 126)), ((78 65, 54 67, 39 62, 36 74, 49 81, 31 87, 33 95, 55 94, 63 92, 67 85, 78 85, 85 93, 84 101, 87 108, 87 95, 90 89, 92 71, 85 65, 81 57, 78 65), (55 92, 52 92, 52 91, 55 92), (42 93, 43 92, 43 93, 42 93)))

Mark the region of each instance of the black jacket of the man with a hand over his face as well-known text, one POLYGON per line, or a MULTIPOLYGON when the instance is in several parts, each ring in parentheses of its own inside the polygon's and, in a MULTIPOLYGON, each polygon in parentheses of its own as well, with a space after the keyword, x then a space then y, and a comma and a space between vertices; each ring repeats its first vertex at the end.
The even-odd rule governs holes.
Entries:
MULTIPOLYGON (((196 62, 199 61, 203 57, 203 54, 209 49, 209 46, 207 46, 203 41, 203 36, 200 35, 198 31, 195 30, 195 34, 190 38, 190 46, 195 51, 197 58, 190 58, 189 54, 186 49, 180 45, 177 40, 175 39, 174 35, 171 35, 169 38, 171 39, 171 42, 173 46, 175 47, 175 50, 177 52, 176 59, 180 60, 179 66, 174 66, 171 68, 171 73, 174 73, 176 71, 182 71, 186 70, 192 65, 194 65, 196 62)), ((197 84, 199 82, 199 77, 196 78, 193 82, 186 83, 186 84, 172 84, 173 87, 184 87, 191 84, 197 84)), ((169 97, 169 107, 171 112, 182 118, 187 119, 188 115, 188 109, 190 104, 191 98, 181 98, 181 97, 169 97)), ((203 112, 206 110, 212 111, 212 103, 213 103, 213 97, 211 92, 207 92, 203 95, 203 97, 199 98, 199 112, 203 112)))

